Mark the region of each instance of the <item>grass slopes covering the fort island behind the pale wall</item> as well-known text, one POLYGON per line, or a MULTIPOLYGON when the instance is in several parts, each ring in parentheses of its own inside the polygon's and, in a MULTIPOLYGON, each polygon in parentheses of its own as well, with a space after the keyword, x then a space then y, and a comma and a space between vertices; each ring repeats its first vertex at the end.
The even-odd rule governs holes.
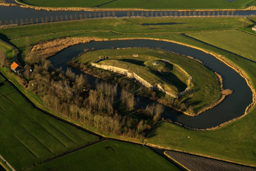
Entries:
MULTIPOLYGON (((145 79, 150 79, 147 76, 149 71, 146 68, 141 70, 142 67, 138 66, 139 62, 144 64, 147 61, 156 59, 170 60, 170 62, 174 65, 172 72, 164 75, 150 74, 150 76, 151 78, 153 77, 155 79, 166 80, 166 82, 170 82, 180 90, 183 87, 182 91, 184 91, 184 84, 188 84, 188 76, 192 76, 192 85, 194 86, 191 88, 193 88, 195 91, 179 98, 181 103, 186 101, 187 105, 191 105, 193 108, 193 111, 189 111, 191 114, 197 113, 200 109, 216 103, 220 98, 220 87, 216 75, 202 64, 192 59, 159 50, 132 48, 92 51, 82 55, 76 60, 90 67, 90 63, 95 61, 99 56, 109 57, 107 60, 99 62, 99 64, 114 65, 124 69, 126 66, 130 66, 127 69, 132 70, 145 79), (132 57, 132 54, 139 54, 139 57, 132 57), (116 62, 117 60, 118 62, 116 62), (120 62, 123 62, 124 65, 120 66, 120 62), (134 64, 136 62, 137 65, 134 64), (139 68, 139 73, 137 73, 137 68, 139 68), (198 75, 198 73, 201 74, 198 75), (157 75, 158 78, 155 75, 157 75)), ((157 81, 160 82, 160 80, 157 81)))

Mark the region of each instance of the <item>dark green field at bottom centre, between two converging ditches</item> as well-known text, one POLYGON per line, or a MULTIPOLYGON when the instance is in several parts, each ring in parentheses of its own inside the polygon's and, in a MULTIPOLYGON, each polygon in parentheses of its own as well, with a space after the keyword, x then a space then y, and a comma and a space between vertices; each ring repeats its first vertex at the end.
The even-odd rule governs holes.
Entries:
POLYGON ((35 171, 177 171, 151 149, 107 140, 38 166, 35 171))

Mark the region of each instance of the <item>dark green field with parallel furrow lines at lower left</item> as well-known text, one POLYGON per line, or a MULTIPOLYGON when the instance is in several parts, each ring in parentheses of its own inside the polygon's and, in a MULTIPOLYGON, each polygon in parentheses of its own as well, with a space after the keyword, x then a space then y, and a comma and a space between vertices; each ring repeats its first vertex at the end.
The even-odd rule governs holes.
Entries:
POLYGON ((33 108, 5 81, 0 82, 0 130, 0 154, 19 171, 98 139, 33 108))

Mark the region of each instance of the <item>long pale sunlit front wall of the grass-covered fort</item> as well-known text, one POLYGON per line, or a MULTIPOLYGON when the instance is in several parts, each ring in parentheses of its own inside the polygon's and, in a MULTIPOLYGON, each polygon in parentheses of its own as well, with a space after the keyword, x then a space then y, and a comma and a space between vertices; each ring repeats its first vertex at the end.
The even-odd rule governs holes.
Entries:
POLYGON ((159 90, 159 91, 162 91, 163 93, 166 93, 166 94, 168 94, 172 97, 178 98, 177 95, 174 95, 170 92, 165 91, 161 87, 161 85, 159 85, 159 84, 151 85, 149 82, 147 82, 146 80, 144 80, 143 78, 141 78, 140 76, 135 74, 134 72, 132 72, 132 73, 128 72, 129 70, 127 70, 127 69, 118 68, 118 67, 110 66, 110 65, 99 65, 99 64, 96 64, 96 63, 91 63, 91 66, 127 75, 129 78, 135 78, 138 82, 140 82, 142 85, 144 85, 145 87, 147 87, 151 90, 159 90))

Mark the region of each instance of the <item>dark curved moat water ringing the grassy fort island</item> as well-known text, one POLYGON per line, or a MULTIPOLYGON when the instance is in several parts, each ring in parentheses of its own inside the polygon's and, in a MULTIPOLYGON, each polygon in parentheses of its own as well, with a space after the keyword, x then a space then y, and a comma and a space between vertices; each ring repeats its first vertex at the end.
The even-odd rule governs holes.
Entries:
MULTIPOLYGON (((112 46, 115 48, 141 46, 151 48, 161 47, 165 50, 192 56, 196 59, 199 59, 222 76, 224 89, 233 90, 233 93, 227 96, 219 105, 201 113, 198 116, 188 116, 182 112, 178 112, 170 107, 165 106, 165 111, 162 116, 166 119, 171 119, 174 122, 178 122, 191 128, 206 129, 218 126, 233 118, 237 118, 243 115, 246 107, 252 102, 251 89, 248 87, 245 79, 241 77, 235 70, 228 67, 223 62, 210 54, 176 43, 157 40, 92 41, 90 43, 78 44, 66 48, 48 59, 55 67, 62 67, 62 69, 66 71, 68 67, 67 62, 83 52, 85 48, 104 49, 111 48, 112 46)), ((84 74, 78 69, 72 68, 72 71, 76 74, 84 74)), ((88 74, 87 78, 91 84, 93 84, 96 80, 95 77, 88 74)), ((148 104, 151 103, 154 103, 154 101, 145 97, 139 97, 138 107, 145 108, 148 104)))

